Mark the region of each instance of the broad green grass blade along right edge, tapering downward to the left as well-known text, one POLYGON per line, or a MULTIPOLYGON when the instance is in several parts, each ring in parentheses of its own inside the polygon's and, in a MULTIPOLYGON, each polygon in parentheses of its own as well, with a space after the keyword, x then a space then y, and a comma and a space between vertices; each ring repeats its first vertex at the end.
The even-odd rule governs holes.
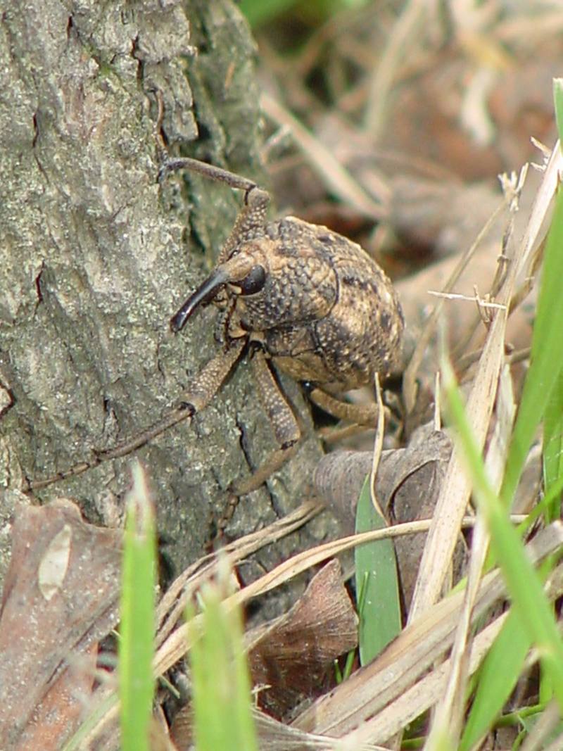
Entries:
MULTIPOLYGON (((546 243, 537 314, 531 343, 530 369, 525 379, 501 490, 504 505, 510 506, 525 457, 537 426, 546 413, 563 370, 563 192, 555 201, 555 213, 546 243)), ((560 381, 559 381, 560 383, 560 381)))

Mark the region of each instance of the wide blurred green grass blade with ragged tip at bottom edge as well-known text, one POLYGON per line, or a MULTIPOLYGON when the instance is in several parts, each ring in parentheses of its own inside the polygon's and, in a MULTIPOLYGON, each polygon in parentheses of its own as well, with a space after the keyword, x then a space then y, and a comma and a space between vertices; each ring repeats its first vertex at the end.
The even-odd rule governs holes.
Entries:
POLYGON ((196 749, 257 751, 240 609, 225 610, 218 585, 204 587, 201 597, 200 616, 188 608, 196 749))

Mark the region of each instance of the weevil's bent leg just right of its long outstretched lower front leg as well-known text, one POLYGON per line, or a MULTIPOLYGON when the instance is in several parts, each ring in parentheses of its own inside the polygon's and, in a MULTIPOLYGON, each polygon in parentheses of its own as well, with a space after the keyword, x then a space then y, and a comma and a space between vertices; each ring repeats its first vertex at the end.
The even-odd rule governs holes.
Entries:
POLYGON ((251 363, 260 401, 272 424, 275 439, 280 448, 272 451, 247 480, 243 480, 233 487, 233 494, 236 496, 245 496, 246 493, 257 490, 270 475, 277 472, 293 456, 297 449, 297 442, 301 437, 297 419, 281 393, 263 351, 256 350, 251 363))

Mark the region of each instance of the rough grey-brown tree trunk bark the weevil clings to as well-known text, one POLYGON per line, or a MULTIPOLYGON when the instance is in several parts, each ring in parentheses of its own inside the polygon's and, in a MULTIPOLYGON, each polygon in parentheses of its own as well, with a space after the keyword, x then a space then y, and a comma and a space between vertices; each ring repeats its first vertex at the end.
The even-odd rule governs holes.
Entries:
MULTIPOLYGON (((152 424, 215 351, 211 310, 180 336, 167 321, 212 266, 236 197, 191 176, 158 186, 152 89, 172 153, 197 139, 192 154, 263 174, 254 44, 227 0, 14 2, 0 35, 0 480, 17 488, 152 424)), ((297 386, 284 383, 309 439, 242 499, 233 534, 299 502, 320 454, 297 386)), ((137 451, 176 566, 202 552, 229 484, 272 448, 242 363, 191 427, 137 451)), ((72 496, 96 520, 122 498, 130 462, 38 496, 72 496)))

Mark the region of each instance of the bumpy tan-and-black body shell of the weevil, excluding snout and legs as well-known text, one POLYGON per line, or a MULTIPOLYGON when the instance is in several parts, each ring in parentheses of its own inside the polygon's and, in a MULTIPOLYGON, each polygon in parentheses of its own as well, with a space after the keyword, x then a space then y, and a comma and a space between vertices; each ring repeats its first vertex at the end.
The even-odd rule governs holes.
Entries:
MULTIPOLYGON (((281 370, 299 381, 348 391, 399 363, 404 321, 383 270, 356 243, 326 227, 286 217, 245 253, 266 270, 263 289, 236 296, 229 328, 259 340, 281 370)), ((227 293, 228 294, 228 293, 227 293)))

